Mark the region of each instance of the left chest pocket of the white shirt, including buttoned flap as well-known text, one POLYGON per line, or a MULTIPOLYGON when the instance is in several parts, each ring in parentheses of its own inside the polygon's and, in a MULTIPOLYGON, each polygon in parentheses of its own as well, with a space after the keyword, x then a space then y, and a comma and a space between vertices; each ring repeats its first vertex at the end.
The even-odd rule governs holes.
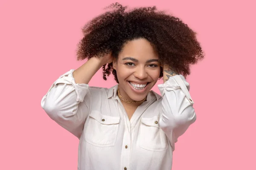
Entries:
POLYGON ((91 111, 85 132, 85 141, 98 147, 111 147, 116 143, 120 117, 91 111))

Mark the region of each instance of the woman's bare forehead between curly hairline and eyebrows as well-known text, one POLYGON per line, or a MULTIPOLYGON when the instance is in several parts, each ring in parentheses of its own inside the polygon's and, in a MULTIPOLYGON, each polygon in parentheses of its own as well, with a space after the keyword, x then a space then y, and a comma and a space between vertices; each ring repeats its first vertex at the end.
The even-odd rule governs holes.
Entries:
POLYGON ((158 59, 157 52, 148 40, 138 39, 128 41, 124 44, 119 58, 132 57, 140 61, 148 59, 158 59))

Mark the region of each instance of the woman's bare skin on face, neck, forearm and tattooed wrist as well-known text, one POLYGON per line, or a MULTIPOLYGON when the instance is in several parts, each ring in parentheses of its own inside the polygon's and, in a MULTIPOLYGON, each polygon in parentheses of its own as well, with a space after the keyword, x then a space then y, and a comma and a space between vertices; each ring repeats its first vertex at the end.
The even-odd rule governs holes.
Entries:
MULTIPOLYGON (((122 48, 118 58, 114 59, 111 54, 104 57, 92 57, 73 72, 76 83, 88 84, 93 75, 105 64, 113 62, 119 80, 119 91, 123 98, 140 101, 156 84, 160 76, 159 57, 148 40, 143 38, 132 40, 122 48), (135 91, 129 82, 137 84, 148 83, 143 91, 135 91)), ((163 65, 163 81, 177 73, 172 71, 168 65, 163 65)), ((141 103, 130 104, 122 102, 128 118, 131 119, 133 113, 141 103)))

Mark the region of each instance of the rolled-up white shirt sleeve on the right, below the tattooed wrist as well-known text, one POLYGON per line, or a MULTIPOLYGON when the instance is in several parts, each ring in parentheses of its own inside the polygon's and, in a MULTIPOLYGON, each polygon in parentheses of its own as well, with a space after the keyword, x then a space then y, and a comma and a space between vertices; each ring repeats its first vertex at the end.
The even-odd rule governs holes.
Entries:
POLYGON ((196 120, 194 101, 189 94, 190 85, 180 74, 169 77, 158 88, 163 97, 159 125, 175 150, 178 137, 196 120))

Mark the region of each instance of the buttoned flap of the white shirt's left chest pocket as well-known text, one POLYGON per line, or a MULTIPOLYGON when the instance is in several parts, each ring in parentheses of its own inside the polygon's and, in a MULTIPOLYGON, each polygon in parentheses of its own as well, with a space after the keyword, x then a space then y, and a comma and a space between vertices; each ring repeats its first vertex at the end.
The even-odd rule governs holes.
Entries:
POLYGON ((120 117, 103 115, 99 111, 91 111, 89 116, 104 125, 118 124, 120 121, 120 117))

